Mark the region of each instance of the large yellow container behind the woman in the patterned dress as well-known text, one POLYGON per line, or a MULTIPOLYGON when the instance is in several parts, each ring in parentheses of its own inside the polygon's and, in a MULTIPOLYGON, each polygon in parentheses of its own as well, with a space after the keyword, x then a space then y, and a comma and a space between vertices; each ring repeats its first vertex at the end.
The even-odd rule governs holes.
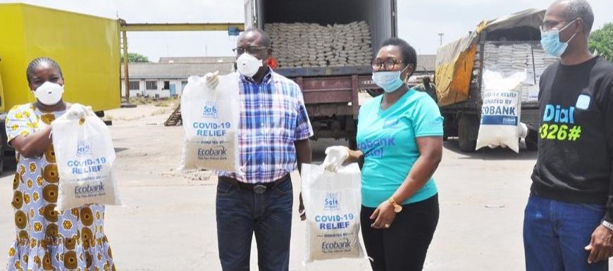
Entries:
POLYGON ((118 20, 27 4, 0 4, 0 111, 36 101, 25 69, 32 59, 57 61, 64 101, 104 111, 120 106, 118 20), (4 89, 4 91, 2 91, 4 89))

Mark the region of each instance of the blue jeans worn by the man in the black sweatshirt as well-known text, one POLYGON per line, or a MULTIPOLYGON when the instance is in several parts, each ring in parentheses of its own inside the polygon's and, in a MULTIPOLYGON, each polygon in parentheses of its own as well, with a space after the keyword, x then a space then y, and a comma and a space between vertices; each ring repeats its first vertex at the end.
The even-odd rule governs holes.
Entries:
POLYGON ((524 212, 526 271, 609 270, 608 260, 588 264, 602 204, 566 203, 531 195, 524 212))

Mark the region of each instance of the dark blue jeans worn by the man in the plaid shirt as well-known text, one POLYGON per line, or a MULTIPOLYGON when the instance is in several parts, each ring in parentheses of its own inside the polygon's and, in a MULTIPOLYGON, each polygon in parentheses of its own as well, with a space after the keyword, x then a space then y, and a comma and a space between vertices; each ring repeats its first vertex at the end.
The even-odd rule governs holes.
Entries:
POLYGON ((222 270, 249 270, 254 232, 259 270, 289 270, 293 203, 290 179, 262 194, 220 181, 216 216, 222 270))

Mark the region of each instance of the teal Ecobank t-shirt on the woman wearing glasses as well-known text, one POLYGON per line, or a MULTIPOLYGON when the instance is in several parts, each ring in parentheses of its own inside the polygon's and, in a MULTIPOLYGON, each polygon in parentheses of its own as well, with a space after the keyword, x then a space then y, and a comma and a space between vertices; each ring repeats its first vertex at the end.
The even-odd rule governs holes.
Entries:
MULTIPOLYGON (((442 116, 428 94, 410 89, 396 103, 381 109, 383 95, 361 106, 357 144, 364 153, 362 205, 376 208, 387 201, 419 158, 417 137, 441 137, 442 116)), ((402 204, 423 201, 437 193, 431 178, 402 204)))

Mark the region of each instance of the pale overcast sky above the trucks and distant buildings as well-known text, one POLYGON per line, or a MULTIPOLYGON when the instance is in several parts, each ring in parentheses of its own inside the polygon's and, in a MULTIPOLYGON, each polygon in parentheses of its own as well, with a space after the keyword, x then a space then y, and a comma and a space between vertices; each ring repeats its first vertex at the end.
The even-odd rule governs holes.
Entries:
MULTIPOLYGON (((67 11, 123 18, 128 23, 242 23, 244 0, 27 0, 67 11), (223 4, 221 4, 223 3, 223 4)), ((308 0, 307 0, 308 1, 308 0)), ((376 0, 372 0, 376 1, 376 0)), ((526 8, 547 8, 552 0, 397 0, 399 37, 419 53, 435 53, 443 44, 494 19, 526 8)), ((0 3, 16 2, 0 0, 0 3)), ((594 29, 613 21, 612 0, 591 0, 594 29)), ((235 37, 227 32, 129 32, 130 52, 151 61, 161 56, 231 56, 235 37)))

